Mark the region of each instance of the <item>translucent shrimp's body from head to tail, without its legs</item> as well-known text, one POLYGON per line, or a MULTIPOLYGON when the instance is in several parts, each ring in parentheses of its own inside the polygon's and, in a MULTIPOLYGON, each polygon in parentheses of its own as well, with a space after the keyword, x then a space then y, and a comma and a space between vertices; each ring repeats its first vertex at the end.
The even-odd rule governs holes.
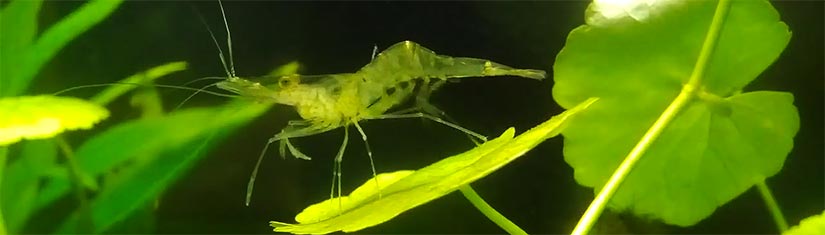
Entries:
POLYGON ((431 82, 449 78, 505 75, 545 78, 541 70, 441 56, 404 41, 384 50, 356 73, 263 77, 256 82, 233 77, 218 83, 218 87, 244 97, 294 106, 301 118, 316 127, 337 127, 380 118, 413 96, 416 86, 429 87, 431 82))

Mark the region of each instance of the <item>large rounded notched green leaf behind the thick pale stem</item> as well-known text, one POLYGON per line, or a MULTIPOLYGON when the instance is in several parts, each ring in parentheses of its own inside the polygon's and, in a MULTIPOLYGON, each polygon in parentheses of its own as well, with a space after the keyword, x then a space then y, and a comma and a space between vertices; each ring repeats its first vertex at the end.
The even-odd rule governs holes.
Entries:
MULTIPOLYGON (((554 66, 553 96, 599 103, 567 129, 565 161, 598 193, 687 83, 716 1, 660 1, 609 11, 591 4, 554 66)), ((672 120, 610 199, 618 211, 689 226, 776 174, 793 146, 793 96, 738 94, 782 52, 787 26, 767 1, 732 1, 698 97, 672 120), (758 38, 759 40, 754 40, 758 38)))

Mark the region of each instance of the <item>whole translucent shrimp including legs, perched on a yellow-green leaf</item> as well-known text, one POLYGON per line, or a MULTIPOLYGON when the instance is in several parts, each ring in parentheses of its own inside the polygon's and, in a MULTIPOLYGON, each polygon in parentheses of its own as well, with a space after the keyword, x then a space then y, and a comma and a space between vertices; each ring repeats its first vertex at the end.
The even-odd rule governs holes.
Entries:
MULTIPOLYGON (((541 80, 545 72, 532 69, 515 69, 489 60, 437 55, 415 42, 397 43, 379 53, 373 60, 355 73, 329 75, 286 75, 245 79, 232 76, 217 86, 243 97, 259 101, 294 106, 303 120, 290 121, 277 135, 267 141, 247 191, 247 204, 258 165, 271 143, 279 142, 283 157, 286 149, 296 158, 309 159, 289 139, 315 135, 344 128, 344 139, 335 157, 333 186, 336 178, 340 197, 341 162, 347 144, 348 127, 355 126, 361 134, 372 164, 366 134, 359 126, 363 120, 426 118, 485 141, 486 138, 443 120, 444 113, 428 102, 430 94, 448 79, 487 76, 518 76, 541 80), (414 102, 407 102, 414 99, 414 102), (412 107, 389 112, 405 103, 412 107)), ((375 166, 372 164, 373 175, 375 166)), ((378 182, 376 182, 378 184, 378 182)), ((380 196, 380 195, 379 195, 380 196)))

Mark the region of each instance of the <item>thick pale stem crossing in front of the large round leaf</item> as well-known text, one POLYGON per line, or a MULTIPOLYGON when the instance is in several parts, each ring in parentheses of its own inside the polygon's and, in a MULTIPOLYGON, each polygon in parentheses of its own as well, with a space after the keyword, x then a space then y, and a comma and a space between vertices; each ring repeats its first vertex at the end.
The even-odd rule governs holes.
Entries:
POLYGON ((699 57, 696 65, 693 67, 693 72, 687 84, 682 87, 682 91, 679 92, 676 99, 668 105, 662 115, 653 123, 653 126, 642 136, 639 143, 637 143, 636 146, 633 147, 633 150, 625 157, 621 165, 613 172, 613 175, 610 176, 610 179, 599 191, 599 194, 596 195, 596 198, 593 199, 593 202, 587 207, 587 211, 582 215, 582 218, 579 219, 579 223, 576 224, 576 228, 573 229, 572 234, 587 234, 590 229, 593 228, 593 225, 598 221, 608 201, 613 197, 613 194, 616 193, 616 190, 622 182, 624 182, 624 179, 636 165, 636 162, 639 161, 641 156, 644 155, 653 142, 662 134, 668 124, 696 97, 696 94, 700 91, 705 69, 719 40, 719 33, 722 31, 729 7, 729 0, 719 1, 713 15, 713 21, 708 29, 708 34, 702 44, 702 49, 699 52, 699 57))

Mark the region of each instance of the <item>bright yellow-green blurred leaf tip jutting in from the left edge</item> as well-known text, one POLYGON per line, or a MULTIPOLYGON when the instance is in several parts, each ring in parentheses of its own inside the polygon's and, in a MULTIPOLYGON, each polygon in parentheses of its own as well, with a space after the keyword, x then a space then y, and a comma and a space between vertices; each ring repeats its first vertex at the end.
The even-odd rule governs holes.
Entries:
POLYGON ((72 97, 49 95, 0 98, 0 146, 21 139, 45 139, 66 130, 89 129, 109 111, 72 97))

